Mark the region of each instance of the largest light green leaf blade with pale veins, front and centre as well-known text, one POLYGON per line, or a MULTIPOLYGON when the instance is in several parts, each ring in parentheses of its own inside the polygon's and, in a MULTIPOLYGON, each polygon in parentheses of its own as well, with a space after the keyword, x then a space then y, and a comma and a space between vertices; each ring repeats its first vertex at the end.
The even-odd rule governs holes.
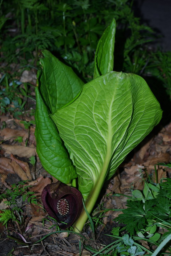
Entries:
POLYGON ((103 185, 126 155, 158 124, 162 111, 144 79, 108 72, 83 87, 69 106, 51 115, 74 155, 84 198, 103 185))

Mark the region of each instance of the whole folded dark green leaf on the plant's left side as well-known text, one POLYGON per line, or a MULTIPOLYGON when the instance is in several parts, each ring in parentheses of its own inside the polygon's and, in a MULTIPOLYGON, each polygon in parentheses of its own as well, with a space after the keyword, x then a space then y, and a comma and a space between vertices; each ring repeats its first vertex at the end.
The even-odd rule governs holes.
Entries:
POLYGON ((49 115, 77 98, 84 83, 49 51, 42 50, 39 57, 42 69, 37 73, 36 88, 37 153, 45 170, 61 182, 70 183, 77 177, 75 167, 49 115))

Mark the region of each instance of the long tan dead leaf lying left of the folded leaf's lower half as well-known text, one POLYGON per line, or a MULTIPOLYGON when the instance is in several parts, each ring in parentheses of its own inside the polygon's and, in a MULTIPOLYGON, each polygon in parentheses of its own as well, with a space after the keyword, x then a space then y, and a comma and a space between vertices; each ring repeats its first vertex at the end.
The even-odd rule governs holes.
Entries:
POLYGON ((13 155, 18 155, 19 157, 28 157, 30 158, 31 156, 36 155, 36 148, 31 148, 31 147, 24 147, 24 146, 18 146, 18 145, 6 145, 6 144, 1 144, 1 148, 6 151, 6 154, 13 154, 13 155))

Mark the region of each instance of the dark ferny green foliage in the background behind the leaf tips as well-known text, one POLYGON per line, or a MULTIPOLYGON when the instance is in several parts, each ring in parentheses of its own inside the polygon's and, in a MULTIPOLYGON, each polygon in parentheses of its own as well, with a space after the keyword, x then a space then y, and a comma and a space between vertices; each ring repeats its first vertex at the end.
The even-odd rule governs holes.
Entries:
POLYGON ((88 82, 93 77, 97 41, 114 17, 118 24, 115 70, 157 76, 171 94, 170 52, 148 50, 155 34, 134 16, 133 1, 15 0, 12 4, 13 9, 11 2, 1 1, 1 14, 13 14, 8 22, 1 17, 5 61, 23 62, 34 54, 37 64, 38 49, 50 48, 88 82), (13 21, 19 31, 12 36, 7 32, 13 21))

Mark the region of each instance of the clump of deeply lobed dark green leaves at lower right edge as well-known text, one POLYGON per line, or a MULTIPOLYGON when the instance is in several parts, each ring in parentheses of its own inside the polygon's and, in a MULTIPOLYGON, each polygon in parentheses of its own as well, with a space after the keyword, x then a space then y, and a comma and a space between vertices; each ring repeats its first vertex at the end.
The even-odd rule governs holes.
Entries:
POLYGON ((131 235, 136 231, 139 236, 145 237, 145 233, 149 232, 146 237, 157 241, 160 238, 159 234, 154 234, 157 227, 163 227, 171 232, 170 187, 171 179, 168 178, 166 182, 160 184, 156 198, 146 197, 136 201, 134 197, 133 201, 128 200, 128 208, 123 209, 123 214, 119 215, 116 220, 126 224, 126 229, 131 235))

